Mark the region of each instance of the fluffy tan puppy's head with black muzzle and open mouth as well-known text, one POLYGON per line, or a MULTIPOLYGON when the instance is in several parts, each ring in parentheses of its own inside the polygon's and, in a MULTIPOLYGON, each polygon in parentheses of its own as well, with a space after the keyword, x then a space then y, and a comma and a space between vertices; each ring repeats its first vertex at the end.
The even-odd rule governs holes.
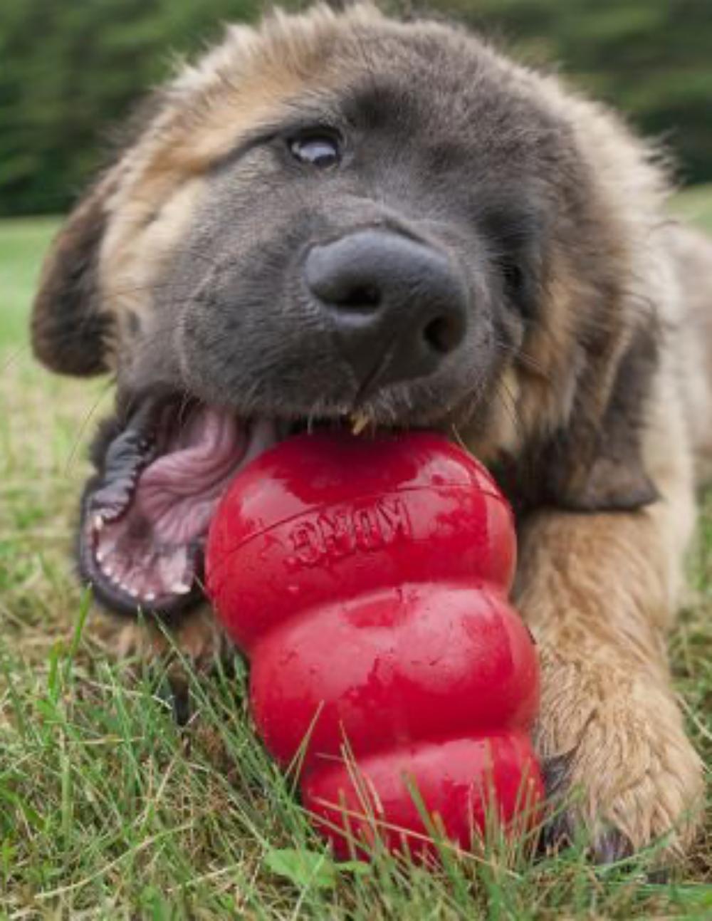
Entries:
POLYGON ((80 525, 99 597, 192 602, 229 478, 309 424, 437 427, 555 458, 542 489, 569 504, 644 501, 651 353, 615 198, 650 180, 632 153, 598 175, 617 131, 442 25, 362 6, 229 29, 69 217, 35 306, 48 366, 118 381, 80 525), (597 483, 602 443, 624 484, 597 483))

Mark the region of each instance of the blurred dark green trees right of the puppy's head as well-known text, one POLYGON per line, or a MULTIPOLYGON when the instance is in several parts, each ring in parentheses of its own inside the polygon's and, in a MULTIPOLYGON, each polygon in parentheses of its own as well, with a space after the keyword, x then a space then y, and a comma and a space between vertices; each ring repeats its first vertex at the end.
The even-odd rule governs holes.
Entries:
POLYGON ((686 182, 712 180, 712 0, 443 0, 519 59, 662 139, 686 182))

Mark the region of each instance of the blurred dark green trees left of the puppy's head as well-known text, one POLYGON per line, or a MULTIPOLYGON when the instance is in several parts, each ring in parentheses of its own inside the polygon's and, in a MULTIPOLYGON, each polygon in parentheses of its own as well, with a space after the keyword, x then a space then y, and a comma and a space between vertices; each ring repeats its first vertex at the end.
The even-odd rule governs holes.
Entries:
POLYGON ((61 211, 178 52, 259 0, 0 0, 0 214, 61 211))

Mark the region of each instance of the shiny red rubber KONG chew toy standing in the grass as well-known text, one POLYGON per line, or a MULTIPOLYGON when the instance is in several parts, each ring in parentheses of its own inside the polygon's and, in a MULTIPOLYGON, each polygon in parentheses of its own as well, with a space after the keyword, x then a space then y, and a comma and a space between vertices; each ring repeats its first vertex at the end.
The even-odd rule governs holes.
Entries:
POLYGON ((508 605, 515 555, 489 473, 436 435, 293 437, 230 486, 208 594, 251 659, 264 744, 283 766, 303 758, 303 802, 337 856, 379 834, 423 857, 434 829, 468 847, 492 815, 518 831, 536 818, 539 675, 508 605))

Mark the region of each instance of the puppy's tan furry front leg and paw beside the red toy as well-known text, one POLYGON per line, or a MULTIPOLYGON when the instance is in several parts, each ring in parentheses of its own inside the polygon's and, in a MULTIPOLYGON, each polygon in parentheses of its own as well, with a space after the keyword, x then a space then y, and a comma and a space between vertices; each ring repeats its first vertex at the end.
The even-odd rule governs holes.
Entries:
MULTIPOLYGON (((702 768, 668 669, 674 504, 634 513, 540 512, 520 535, 517 603, 543 670, 538 746, 563 794, 550 840, 590 834, 594 858, 662 835, 683 852, 702 768)), ((555 796, 554 799, 559 799, 555 796)))

